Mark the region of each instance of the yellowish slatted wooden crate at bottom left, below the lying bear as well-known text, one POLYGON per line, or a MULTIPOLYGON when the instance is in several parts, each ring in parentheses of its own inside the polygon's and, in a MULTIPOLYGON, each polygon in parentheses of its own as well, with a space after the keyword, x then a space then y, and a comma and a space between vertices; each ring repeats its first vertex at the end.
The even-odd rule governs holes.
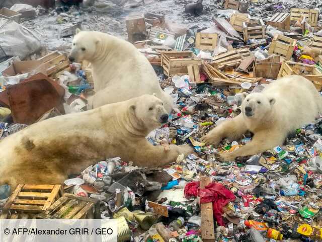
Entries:
POLYGON ((43 212, 61 195, 61 185, 19 184, 4 206, 5 211, 43 212))

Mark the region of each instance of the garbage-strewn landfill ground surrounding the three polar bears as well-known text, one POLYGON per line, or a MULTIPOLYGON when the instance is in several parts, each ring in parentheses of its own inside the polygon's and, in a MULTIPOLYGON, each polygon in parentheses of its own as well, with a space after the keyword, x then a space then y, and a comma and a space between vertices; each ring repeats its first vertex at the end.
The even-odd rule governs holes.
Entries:
MULTIPOLYGON (((82 172, 71 172, 64 184, 0 184, 0 219, 115 218, 119 242, 322 241, 321 113, 290 130, 283 145, 252 155, 227 154, 243 150, 257 131, 244 132, 238 139, 223 137, 218 145, 203 139, 230 118, 248 116, 246 94, 260 93, 279 78, 303 76, 314 84, 312 93, 321 95, 322 1, 203 0, 197 16, 185 13, 185 6, 197 1, 84 1, 70 6, 58 2, 47 9, 25 6, 27 13, 13 7, 12 1, 0 1, 0 9, 23 14, 9 21, 0 11, 0 147, 30 125, 90 109, 87 102, 95 93, 91 64, 68 59, 79 28, 132 40, 152 65, 160 87, 174 100, 168 123, 146 140, 164 152, 174 144, 189 144, 194 153, 181 154, 161 167, 106 157, 90 167, 76 167, 82 172), (281 20, 272 27, 268 22, 276 22, 275 14, 281 20), (245 32, 254 26, 256 39, 245 32), (206 34, 212 42, 197 43, 197 36, 206 34), (183 64, 170 66, 167 58, 183 64), (50 198, 37 204, 38 193, 50 198)), ((282 98, 293 95, 285 92, 282 98)), ((296 94, 294 102, 300 106, 298 100, 308 95, 296 94)), ((312 106, 318 102, 315 98, 312 106)), ((305 113, 303 105, 292 110, 305 113)), ((284 120, 286 114, 278 115, 284 120)), ((263 122, 269 118, 264 116, 263 122)), ((281 133, 288 127, 293 126, 286 124, 281 133)), ((263 146, 270 135, 269 130, 263 146)), ((24 145, 33 149, 30 140, 24 145)), ((0 174, 5 174, 1 157, 0 174)))

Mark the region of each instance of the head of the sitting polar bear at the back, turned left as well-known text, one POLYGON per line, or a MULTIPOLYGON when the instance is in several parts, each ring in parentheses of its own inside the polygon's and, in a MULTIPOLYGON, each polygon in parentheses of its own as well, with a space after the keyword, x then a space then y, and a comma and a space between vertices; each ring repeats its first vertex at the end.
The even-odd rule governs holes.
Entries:
POLYGON ((72 40, 72 46, 68 55, 70 62, 81 63, 83 60, 92 61, 97 53, 100 38, 95 32, 76 29, 76 35, 72 40))

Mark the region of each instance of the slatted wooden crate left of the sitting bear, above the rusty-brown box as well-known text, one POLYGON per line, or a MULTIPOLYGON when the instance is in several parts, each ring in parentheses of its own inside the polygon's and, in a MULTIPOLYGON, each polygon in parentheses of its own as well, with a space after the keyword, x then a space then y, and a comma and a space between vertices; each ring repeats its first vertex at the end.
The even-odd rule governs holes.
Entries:
POLYGON ((55 76, 58 72, 69 68, 70 65, 67 56, 58 51, 51 52, 39 58, 38 61, 45 64, 48 76, 55 76))

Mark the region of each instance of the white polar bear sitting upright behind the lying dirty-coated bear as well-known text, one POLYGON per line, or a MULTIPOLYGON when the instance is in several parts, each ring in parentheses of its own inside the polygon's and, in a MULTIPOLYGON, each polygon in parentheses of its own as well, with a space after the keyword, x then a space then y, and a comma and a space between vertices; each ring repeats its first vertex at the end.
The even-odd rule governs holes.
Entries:
POLYGON ((93 108, 156 93, 166 110, 172 110, 172 98, 161 89, 147 58, 125 40, 101 32, 77 30, 69 60, 91 63, 96 94, 89 98, 89 103, 93 108))

